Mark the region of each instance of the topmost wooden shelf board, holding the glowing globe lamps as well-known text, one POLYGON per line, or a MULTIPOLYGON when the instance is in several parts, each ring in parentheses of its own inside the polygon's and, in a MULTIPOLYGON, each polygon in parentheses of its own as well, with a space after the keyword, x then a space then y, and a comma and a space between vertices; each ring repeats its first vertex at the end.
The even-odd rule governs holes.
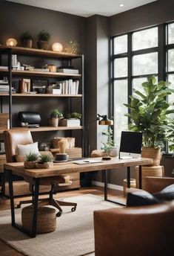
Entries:
POLYGON ((30 55, 38 55, 41 57, 52 57, 52 58, 69 58, 76 59, 81 57, 80 54, 69 54, 67 52, 57 52, 57 51, 47 51, 41 50, 37 48, 24 48, 24 47, 14 47, 14 46, 0 46, 0 49, 6 51, 7 49, 11 49, 13 54, 30 54, 30 55))

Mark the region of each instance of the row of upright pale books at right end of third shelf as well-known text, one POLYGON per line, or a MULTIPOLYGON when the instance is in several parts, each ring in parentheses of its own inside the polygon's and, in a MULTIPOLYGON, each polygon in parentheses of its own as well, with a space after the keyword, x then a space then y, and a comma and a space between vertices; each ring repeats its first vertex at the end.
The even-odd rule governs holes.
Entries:
POLYGON ((64 80, 57 83, 56 86, 48 86, 47 92, 53 95, 78 95, 78 80, 64 80))

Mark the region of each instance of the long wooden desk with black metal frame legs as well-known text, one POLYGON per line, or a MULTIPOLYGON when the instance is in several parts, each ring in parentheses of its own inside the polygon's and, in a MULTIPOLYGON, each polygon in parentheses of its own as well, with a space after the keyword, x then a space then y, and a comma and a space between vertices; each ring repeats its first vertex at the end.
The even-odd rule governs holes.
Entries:
MULTIPOLYGON (((95 158, 96 160, 97 158, 95 158)), ((98 158, 101 159, 101 158, 98 158)), ((103 161, 96 164, 73 164, 73 161, 68 161, 66 163, 54 164, 53 167, 49 169, 25 169, 23 163, 7 163, 4 164, 4 170, 8 172, 9 176, 9 190, 10 190, 10 206, 11 206, 11 218, 12 225, 18 228, 20 231, 28 234, 30 237, 36 237, 36 222, 37 222, 37 212, 38 212, 38 199, 39 199, 39 182, 41 178, 53 177, 60 174, 66 173, 83 173, 96 170, 104 171, 104 200, 111 201, 107 199, 107 170, 114 170, 119 167, 127 167, 127 187, 130 188, 130 167, 139 166, 139 185, 141 188, 141 165, 152 164, 153 159, 117 159, 112 158, 110 161, 103 161), (35 190, 33 193, 33 227, 32 231, 24 230, 20 225, 15 222, 15 210, 14 210, 14 198, 13 198, 13 179, 12 174, 16 174, 22 177, 33 178, 35 182, 35 190)))

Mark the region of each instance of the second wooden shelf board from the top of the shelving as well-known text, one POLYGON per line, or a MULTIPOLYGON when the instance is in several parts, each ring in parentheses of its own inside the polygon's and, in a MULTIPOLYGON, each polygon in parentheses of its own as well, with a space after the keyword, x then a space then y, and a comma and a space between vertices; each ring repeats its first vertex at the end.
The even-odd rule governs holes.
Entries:
MULTIPOLYGON (((7 73, 8 69, 0 69, 0 72, 7 73)), ((44 71, 27 71, 27 70, 12 70, 14 75, 26 75, 34 77, 81 77, 81 74, 72 74, 72 73, 61 73, 61 72, 44 72, 44 71)))

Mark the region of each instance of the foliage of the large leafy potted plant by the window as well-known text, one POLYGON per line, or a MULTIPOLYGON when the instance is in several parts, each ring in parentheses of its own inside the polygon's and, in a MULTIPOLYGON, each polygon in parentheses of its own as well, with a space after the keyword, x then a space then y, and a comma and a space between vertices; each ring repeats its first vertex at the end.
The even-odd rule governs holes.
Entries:
POLYGON ((170 114, 174 113, 167 103, 167 96, 174 90, 169 89, 170 83, 156 83, 155 76, 147 78, 142 83, 144 92, 134 90, 135 96, 130 96, 130 104, 124 104, 130 109, 126 114, 130 118, 129 129, 143 133, 144 147, 164 147, 164 141, 172 138, 174 131, 170 114))

